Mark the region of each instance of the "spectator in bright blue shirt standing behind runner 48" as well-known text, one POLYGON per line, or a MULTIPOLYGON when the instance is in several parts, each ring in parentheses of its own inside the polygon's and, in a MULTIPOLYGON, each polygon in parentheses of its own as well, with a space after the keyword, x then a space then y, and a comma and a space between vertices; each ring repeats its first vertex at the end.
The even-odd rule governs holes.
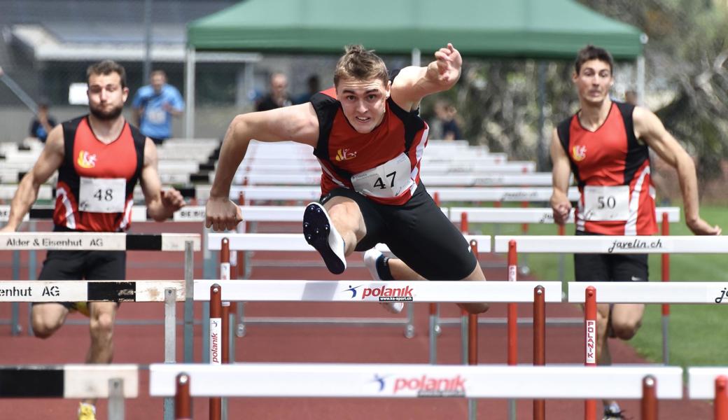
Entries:
POLYGON ((151 84, 136 92, 132 107, 139 131, 154 143, 162 144, 172 137, 172 117, 182 115, 184 101, 179 90, 167 84, 164 71, 152 71, 149 79, 151 84))

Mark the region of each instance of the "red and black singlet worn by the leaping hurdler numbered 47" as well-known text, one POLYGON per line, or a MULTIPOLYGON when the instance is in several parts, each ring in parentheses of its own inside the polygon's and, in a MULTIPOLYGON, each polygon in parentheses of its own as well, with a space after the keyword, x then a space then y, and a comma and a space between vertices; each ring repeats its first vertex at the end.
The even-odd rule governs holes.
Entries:
MULTIPOLYGON (((392 78, 393 79, 393 78, 392 78)), ((371 132, 360 133, 349 124, 336 90, 331 88, 312 96, 311 103, 319 120, 319 138, 314 155, 321 164, 321 193, 352 186, 352 175, 371 170, 402 154, 408 158, 409 173, 400 174, 406 182, 396 197, 376 197, 365 194, 375 202, 402 205, 412 197, 419 184, 420 162, 427 145, 429 127, 418 111, 405 111, 392 98, 387 98, 381 123, 371 132)), ((404 159, 404 158, 403 158, 404 159)), ((393 181, 384 178, 385 183, 393 181)))

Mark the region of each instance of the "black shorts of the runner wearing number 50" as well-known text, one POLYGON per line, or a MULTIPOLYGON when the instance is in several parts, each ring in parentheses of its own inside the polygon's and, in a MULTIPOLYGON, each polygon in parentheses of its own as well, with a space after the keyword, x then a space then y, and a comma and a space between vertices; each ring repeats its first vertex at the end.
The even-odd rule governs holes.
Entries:
MULTIPOLYGON (((577 231, 577 236, 596 235, 577 231)), ((574 254, 577 282, 646 282, 647 254, 574 254)))

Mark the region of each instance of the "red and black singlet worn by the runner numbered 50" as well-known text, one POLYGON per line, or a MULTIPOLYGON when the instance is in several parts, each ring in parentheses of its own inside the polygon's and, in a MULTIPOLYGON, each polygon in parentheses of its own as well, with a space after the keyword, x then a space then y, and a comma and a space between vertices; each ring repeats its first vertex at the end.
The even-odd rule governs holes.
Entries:
POLYGON ((578 114, 558 124, 561 146, 579 186, 579 231, 605 235, 657 232, 649 148, 634 135, 633 110, 627 103, 613 102, 604 124, 593 132, 582 127, 578 114), (592 217, 603 212, 613 217, 592 217))

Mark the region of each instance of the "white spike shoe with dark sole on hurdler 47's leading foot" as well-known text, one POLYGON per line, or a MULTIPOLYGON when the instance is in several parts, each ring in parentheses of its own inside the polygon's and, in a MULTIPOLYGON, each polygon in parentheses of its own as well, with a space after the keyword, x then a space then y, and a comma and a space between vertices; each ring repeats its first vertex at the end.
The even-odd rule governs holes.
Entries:
POLYGON ((304 210, 304 238, 321 254, 328 271, 341 274, 347 269, 344 258, 344 238, 333 227, 326 209, 312 202, 304 210))

